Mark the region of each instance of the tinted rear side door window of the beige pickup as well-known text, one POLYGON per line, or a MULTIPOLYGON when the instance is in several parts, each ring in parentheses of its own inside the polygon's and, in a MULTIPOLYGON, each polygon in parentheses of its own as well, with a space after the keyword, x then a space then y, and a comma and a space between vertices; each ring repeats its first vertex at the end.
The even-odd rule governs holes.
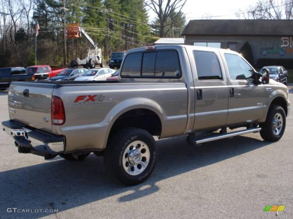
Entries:
POLYGON ((216 53, 193 51, 197 76, 200 80, 223 79, 216 53))

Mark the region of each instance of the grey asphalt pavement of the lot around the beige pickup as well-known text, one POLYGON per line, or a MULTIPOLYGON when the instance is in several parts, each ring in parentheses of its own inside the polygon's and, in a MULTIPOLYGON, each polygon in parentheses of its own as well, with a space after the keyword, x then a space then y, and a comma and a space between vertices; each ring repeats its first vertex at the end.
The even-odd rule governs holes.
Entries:
POLYGON ((292 133, 293 110, 279 142, 259 133, 198 146, 186 136, 157 140, 153 174, 125 187, 111 180, 102 157, 73 162, 19 154, 0 131, 0 218, 293 218, 292 133), (268 205, 286 207, 276 216, 263 211, 268 205))

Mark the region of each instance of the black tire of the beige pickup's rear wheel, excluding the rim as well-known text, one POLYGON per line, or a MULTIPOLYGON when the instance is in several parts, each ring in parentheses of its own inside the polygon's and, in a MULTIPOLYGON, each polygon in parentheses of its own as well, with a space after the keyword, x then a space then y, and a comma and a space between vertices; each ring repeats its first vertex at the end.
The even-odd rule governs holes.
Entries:
POLYGON ((153 136, 141 128, 123 128, 109 137, 104 154, 105 166, 115 180, 125 185, 137 185, 144 182, 152 173, 156 163, 156 142, 153 136), (149 162, 138 175, 130 175, 122 164, 123 153, 134 141, 142 141, 149 148, 149 162))

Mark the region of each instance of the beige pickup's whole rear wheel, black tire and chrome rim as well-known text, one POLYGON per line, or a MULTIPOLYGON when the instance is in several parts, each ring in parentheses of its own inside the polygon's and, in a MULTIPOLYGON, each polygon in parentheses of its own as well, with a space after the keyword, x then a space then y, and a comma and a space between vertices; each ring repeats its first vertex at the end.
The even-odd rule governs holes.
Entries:
POLYGON ((137 185, 154 170, 156 142, 143 129, 121 129, 109 138, 104 162, 115 179, 125 185, 137 185))

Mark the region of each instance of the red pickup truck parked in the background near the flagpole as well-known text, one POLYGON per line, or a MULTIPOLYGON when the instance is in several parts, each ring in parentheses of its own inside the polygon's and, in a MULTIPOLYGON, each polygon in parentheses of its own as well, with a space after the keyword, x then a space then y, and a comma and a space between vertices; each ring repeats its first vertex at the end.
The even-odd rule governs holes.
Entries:
POLYGON ((34 74, 33 80, 52 78, 59 74, 64 68, 51 68, 50 65, 33 65, 25 70, 28 74, 34 74))

